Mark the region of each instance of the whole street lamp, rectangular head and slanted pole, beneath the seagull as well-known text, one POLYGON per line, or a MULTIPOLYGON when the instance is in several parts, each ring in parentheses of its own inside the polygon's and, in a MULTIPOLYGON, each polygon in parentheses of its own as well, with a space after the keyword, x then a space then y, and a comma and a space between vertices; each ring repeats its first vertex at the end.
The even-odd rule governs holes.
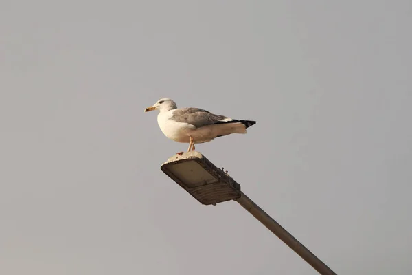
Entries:
POLYGON ((162 164, 161 170, 202 204, 216 206, 217 203, 224 201, 237 201, 268 230, 271 230, 302 259, 312 265, 317 272, 322 275, 336 275, 262 208, 244 195, 240 190, 240 184, 232 179, 223 168, 217 168, 201 153, 192 151, 176 154, 162 164))

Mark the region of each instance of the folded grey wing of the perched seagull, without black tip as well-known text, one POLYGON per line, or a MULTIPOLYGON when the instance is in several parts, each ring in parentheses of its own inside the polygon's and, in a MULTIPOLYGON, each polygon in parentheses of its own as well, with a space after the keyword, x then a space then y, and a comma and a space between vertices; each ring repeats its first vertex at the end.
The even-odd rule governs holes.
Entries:
POLYGON ((215 115, 209 111, 198 108, 181 108, 175 109, 173 112, 172 120, 176 122, 184 122, 192 124, 196 128, 201 126, 215 124, 220 120, 224 120, 224 115, 215 115))

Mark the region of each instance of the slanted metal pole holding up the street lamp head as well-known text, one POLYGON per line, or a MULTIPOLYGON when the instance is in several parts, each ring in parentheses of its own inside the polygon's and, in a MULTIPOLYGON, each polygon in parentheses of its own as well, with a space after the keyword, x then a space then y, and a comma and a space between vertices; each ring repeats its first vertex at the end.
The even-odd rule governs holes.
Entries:
POLYGON ((314 256, 312 252, 305 248, 304 245, 299 243, 294 236, 289 234, 282 226, 279 225, 274 219, 271 218, 262 208, 254 203, 247 195, 242 192, 242 197, 237 199, 238 203, 243 206, 249 213, 253 215, 258 221, 260 221, 268 230, 271 230, 279 239, 281 239, 289 248, 292 248, 302 259, 317 270, 322 275, 336 275, 328 265, 325 265, 321 260, 314 256))

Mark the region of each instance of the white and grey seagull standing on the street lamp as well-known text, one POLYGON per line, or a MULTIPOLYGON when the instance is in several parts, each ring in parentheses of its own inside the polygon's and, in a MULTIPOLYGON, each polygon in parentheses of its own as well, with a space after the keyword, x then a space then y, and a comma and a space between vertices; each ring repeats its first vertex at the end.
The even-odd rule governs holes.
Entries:
POLYGON ((252 120, 235 120, 198 108, 177 109, 170 98, 161 98, 144 112, 159 110, 157 124, 170 140, 189 143, 187 152, 194 151, 194 144, 211 142, 216 137, 231 133, 247 133, 256 124, 252 120))

